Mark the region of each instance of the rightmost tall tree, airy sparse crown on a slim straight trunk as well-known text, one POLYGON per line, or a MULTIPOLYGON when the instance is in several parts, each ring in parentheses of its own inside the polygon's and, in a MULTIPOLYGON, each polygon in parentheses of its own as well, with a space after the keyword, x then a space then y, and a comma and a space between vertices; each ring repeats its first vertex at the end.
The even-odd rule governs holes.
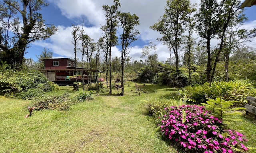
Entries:
MULTIPOLYGON (((218 34, 220 39, 220 46, 218 51, 223 52, 225 61, 225 75, 226 81, 228 77, 228 63, 230 54, 236 49, 243 47, 246 42, 252 41, 251 38, 256 36, 256 28, 252 30, 242 29, 242 25, 248 20, 243 14, 243 9, 238 9, 240 6, 239 0, 226 0, 222 1, 222 22, 223 25, 218 34)), ((215 71, 216 63, 214 62, 213 73, 215 71)), ((212 76, 213 77, 213 76, 212 76)))

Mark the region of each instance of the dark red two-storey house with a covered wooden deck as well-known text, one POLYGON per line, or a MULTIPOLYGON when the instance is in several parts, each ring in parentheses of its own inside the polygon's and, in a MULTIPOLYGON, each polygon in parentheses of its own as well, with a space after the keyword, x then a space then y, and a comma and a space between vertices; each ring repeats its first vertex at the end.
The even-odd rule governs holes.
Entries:
POLYGON ((100 72, 96 69, 89 70, 89 69, 82 69, 81 67, 77 67, 76 68, 77 71, 76 71, 75 61, 70 58, 41 59, 41 61, 44 61, 44 69, 40 71, 50 81, 54 81, 58 84, 73 83, 76 80, 76 78, 71 76, 74 76, 74 75, 80 75, 77 77, 79 82, 82 82, 82 75, 84 77, 85 83, 87 83, 89 80, 91 80, 92 82, 95 82, 98 79, 97 78, 98 72, 100 72))

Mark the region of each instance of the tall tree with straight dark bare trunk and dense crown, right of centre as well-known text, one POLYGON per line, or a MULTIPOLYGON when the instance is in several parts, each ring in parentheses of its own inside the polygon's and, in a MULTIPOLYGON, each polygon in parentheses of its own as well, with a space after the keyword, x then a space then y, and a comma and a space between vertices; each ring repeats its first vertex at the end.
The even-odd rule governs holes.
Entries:
POLYGON ((196 13, 196 30, 198 35, 206 40, 207 49, 207 67, 206 67, 206 79, 207 82, 212 82, 212 56, 211 56, 211 39, 217 34, 220 27, 219 25, 219 9, 220 6, 217 0, 201 0, 200 8, 196 13))

